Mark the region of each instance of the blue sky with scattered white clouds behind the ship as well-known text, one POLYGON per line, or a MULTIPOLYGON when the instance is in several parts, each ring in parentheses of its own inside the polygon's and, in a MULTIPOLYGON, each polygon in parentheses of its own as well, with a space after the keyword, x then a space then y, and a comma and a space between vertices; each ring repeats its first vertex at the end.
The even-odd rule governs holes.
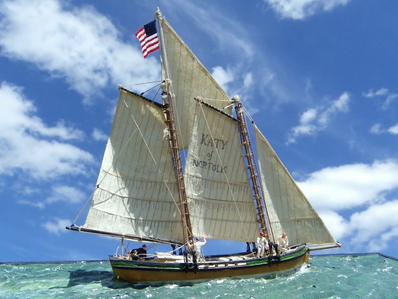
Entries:
POLYGON ((318 253, 398 257, 397 1, 0 0, 0 261, 115 252, 65 226, 84 223, 117 84, 160 79, 134 36, 157 6, 343 244, 318 253))

